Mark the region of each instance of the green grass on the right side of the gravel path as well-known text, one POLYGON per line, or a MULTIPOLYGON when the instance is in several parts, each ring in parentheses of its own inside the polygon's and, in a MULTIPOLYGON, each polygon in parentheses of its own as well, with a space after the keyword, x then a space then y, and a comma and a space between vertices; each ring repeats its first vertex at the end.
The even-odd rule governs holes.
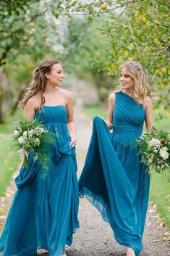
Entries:
MULTIPOLYGON (((93 119, 95 115, 100 115, 104 118, 107 117, 107 110, 98 106, 84 107, 83 112, 90 119, 93 119)), ((156 128, 170 131, 170 117, 165 110, 153 110, 153 124, 156 128)), ((166 223, 166 226, 170 229, 170 183, 158 173, 153 173, 151 176, 150 201, 153 201, 157 205, 158 212, 166 223)))

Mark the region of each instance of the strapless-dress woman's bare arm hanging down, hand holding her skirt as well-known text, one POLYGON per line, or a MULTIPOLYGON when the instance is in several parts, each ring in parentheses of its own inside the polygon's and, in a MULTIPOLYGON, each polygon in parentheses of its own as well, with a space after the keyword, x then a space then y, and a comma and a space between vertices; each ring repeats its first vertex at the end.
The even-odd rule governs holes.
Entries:
POLYGON ((70 146, 74 147, 77 141, 77 128, 74 120, 74 100, 70 92, 67 92, 67 125, 72 139, 70 146))

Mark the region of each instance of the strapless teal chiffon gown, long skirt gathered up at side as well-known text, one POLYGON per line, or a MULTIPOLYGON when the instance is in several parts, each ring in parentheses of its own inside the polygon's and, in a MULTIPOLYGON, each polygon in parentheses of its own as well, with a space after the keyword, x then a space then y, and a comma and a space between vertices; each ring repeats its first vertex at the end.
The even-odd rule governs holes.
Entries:
POLYGON ((15 178, 17 192, 0 239, 3 256, 33 256, 41 248, 50 256, 61 256, 79 227, 77 163, 75 148, 69 146, 67 109, 44 106, 43 110, 36 110, 35 118, 59 134, 50 149, 51 167, 42 179, 41 167, 30 154, 29 168, 22 167, 15 178))

